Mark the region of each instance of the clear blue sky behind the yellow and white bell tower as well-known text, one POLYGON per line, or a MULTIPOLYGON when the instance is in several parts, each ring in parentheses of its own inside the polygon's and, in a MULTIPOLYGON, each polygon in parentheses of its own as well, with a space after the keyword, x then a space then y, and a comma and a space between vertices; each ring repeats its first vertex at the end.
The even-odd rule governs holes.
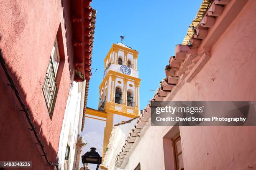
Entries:
MULTIPOLYGON (((92 0, 97 14, 87 107, 97 109, 103 60, 112 44, 120 42, 120 35, 125 36, 125 45, 139 52, 140 109, 146 107, 154 95, 150 90, 156 90, 165 77, 164 68, 174 55, 175 45, 182 43, 201 3, 202 0, 92 0)), ((83 133, 103 135, 104 124, 87 118, 83 133)))

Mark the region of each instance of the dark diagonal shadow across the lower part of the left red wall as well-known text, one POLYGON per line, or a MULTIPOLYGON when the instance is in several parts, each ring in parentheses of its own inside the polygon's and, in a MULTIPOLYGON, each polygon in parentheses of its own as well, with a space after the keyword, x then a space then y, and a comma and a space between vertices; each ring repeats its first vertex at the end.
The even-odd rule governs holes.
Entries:
MULTIPOLYGON (((4 55, 4 54, 3 54, 4 55)), ((41 130, 42 120, 36 120, 31 113, 31 108, 26 100, 26 94, 20 85, 20 78, 16 72, 13 72, 9 65, 6 65, 10 76, 20 94, 23 103, 28 108, 31 121, 36 128, 38 136, 44 145, 48 159, 56 163, 56 150, 51 145, 51 141, 47 140, 41 130), (38 123, 38 121, 40 123, 38 123), (47 143, 47 141, 49 141, 47 143)), ((0 161, 32 161, 32 169, 34 170, 54 170, 54 166, 47 166, 47 162, 43 156, 40 145, 33 131, 29 130, 31 126, 28 123, 25 112, 20 111, 22 107, 15 96, 14 90, 8 86, 8 79, 5 75, 2 65, 0 65, 0 161)), ((38 82, 39 84, 39 82, 38 82)), ((40 88, 41 89, 41 88, 40 88)), ((45 104, 45 103, 43 103, 45 104)), ((42 112, 40 114, 49 114, 42 112)), ((46 133, 44 131, 44 133, 46 133)), ((50 137, 49 137, 50 138, 50 137)), ((58 139, 54 139, 58 140, 58 139)), ((17 169, 17 168, 8 168, 17 169)), ((26 168, 23 168, 24 170, 26 168)), ((31 169, 31 168, 28 168, 31 169)))

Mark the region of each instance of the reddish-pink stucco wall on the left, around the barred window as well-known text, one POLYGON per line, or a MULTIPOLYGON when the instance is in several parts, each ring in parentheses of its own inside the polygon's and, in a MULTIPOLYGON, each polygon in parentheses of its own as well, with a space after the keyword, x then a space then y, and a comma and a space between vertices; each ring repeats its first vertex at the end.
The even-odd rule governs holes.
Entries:
MULTIPOLYGON (((63 13, 61 0, 0 1, 0 48, 8 70, 29 109, 31 119, 41 138, 49 160, 55 163, 64 109, 73 72, 72 41, 67 42, 69 10, 63 13), (67 20, 66 27, 64 25, 67 20), (57 74, 59 91, 52 119, 46 107, 42 84, 49 57, 58 31, 61 62, 57 74), (66 28, 66 29, 65 29, 66 28), (69 49, 67 48, 69 46, 69 49)), ((63 1, 64 8, 69 8, 63 1)), ((32 161, 33 169, 46 166, 41 148, 36 145, 28 121, 7 78, 0 67, 0 161, 32 161)))

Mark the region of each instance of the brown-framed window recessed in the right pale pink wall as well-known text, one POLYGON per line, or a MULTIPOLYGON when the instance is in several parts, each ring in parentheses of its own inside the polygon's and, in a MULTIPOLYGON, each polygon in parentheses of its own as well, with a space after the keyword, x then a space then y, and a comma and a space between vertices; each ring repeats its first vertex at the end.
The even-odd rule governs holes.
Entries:
POLYGON ((177 165, 177 170, 184 170, 180 135, 178 135, 178 137, 174 139, 173 142, 174 142, 174 157, 177 165))

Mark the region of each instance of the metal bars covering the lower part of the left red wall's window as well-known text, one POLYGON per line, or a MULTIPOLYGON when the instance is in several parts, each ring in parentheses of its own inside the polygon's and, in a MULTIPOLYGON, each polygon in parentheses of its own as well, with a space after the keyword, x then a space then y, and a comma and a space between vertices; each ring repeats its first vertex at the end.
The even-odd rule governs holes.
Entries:
POLYGON ((58 93, 58 87, 56 83, 56 77, 54 73, 54 66, 52 59, 50 57, 50 61, 47 67, 44 84, 42 87, 45 102, 47 105, 47 109, 49 111, 50 117, 52 117, 53 111, 54 111, 54 105, 56 102, 56 96, 58 93))

